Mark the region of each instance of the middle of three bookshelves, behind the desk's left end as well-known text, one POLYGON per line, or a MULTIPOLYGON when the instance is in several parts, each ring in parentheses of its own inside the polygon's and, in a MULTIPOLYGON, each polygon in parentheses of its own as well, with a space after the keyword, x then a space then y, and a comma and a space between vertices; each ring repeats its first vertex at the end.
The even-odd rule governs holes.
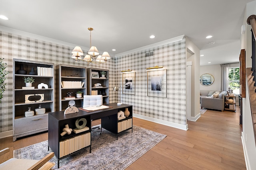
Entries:
POLYGON ((83 106, 83 96, 87 94, 86 87, 86 67, 58 64, 57 73, 57 109, 63 111, 68 107, 70 100, 75 101, 76 107, 83 106), (76 92, 82 91, 82 98, 76 97, 76 92), (67 94, 72 92, 74 98, 66 98, 67 94))

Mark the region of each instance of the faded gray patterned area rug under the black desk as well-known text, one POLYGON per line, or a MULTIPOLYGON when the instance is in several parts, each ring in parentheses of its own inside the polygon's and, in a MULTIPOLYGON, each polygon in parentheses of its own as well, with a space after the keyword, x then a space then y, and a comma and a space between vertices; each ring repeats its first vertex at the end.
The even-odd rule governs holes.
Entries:
MULTIPOLYGON (((102 133, 92 131, 92 152, 90 148, 81 150, 76 154, 60 160, 60 170, 107 170, 125 169, 144 153, 162 141, 166 135, 150 131, 133 125, 128 130, 116 135, 102 129, 102 133)), ((30 145, 14 150, 14 158, 41 159, 50 153, 48 141, 30 145)), ((54 156, 50 162, 55 162, 57 169, 58 161, 54 156)))

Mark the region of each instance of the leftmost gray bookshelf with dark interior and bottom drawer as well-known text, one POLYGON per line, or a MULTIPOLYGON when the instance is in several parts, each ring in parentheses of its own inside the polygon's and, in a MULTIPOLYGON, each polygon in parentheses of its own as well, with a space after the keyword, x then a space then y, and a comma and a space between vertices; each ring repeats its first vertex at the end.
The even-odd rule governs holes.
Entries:
POLYGON ((54 64, 22 59, 13 59, 13 141, 18 137, 48 130, 48 113, 54 111, 54 64), (23 68, 23 69, 22 69, 23 68), (39 69, 41 69, 39 71, 39 69), (22 70, 22 71, 21 71, 22 70), (32 72, 33 71, 33 72, 32 72), (32 77, 34 88, 24 88, 24 77, 32 77), (48 88, 38 88, 38 84, 48 88), (26 96, 40 97, 40 100, 25 100, 26 96), (45 113, 25 117, 28 107, 31 111, 41 105, 45 113))

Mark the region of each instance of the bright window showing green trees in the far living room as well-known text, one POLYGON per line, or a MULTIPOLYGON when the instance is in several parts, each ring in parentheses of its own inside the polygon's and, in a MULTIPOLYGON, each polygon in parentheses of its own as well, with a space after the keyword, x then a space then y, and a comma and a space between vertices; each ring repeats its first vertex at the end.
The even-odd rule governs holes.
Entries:
POLYGON ((234 94, 240 94, 240 74, 239 67, 228 68, 228 87, 234 94))

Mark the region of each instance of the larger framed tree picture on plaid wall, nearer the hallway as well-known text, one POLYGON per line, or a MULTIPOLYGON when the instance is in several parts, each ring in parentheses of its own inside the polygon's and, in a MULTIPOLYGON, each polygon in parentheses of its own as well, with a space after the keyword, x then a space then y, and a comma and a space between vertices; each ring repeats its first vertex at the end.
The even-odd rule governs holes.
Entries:
POLYGON ((147 71, 148 96, 167 98, 166 74, 166 69, 147 71))

